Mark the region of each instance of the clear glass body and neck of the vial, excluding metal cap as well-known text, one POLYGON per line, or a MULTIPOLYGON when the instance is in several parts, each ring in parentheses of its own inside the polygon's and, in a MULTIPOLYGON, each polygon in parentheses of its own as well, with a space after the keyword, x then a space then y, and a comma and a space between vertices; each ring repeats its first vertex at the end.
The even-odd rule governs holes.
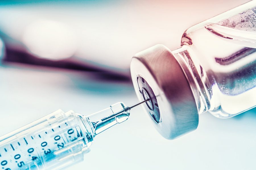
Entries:
POLYGON ((228 118, 255 107, 255 0, 187 29, 181 43, 173 54, 191 68, 199 112, 228 118))

